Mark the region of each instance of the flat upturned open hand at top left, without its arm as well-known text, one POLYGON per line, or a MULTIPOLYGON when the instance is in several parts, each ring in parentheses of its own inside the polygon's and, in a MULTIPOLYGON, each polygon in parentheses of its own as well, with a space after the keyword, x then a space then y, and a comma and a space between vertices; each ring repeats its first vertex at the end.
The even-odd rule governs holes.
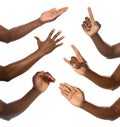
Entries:
POLYGON ((43 23, 53 21, 57 17, 62 15, 64 12, 66 12, 67 9, 68 9, 68 7, 63 7, 63 8, 58 9, 58 10, 56 8, 53 8, 51 10, 45 11, 42 13, 42 15, 40 17, 40 21, 43 23))

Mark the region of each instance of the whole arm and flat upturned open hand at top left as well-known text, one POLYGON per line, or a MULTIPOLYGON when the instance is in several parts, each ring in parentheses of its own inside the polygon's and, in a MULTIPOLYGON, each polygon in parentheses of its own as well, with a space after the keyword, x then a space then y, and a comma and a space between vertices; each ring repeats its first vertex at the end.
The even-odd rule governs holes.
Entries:
POLYGON ((14 27, 12 29, 6 29, 3 26, 0 26, 0 41, 9 43, 11 41, 17 40, 29 32, 33 31, 37 27, 54 21, 57 17, 59 17, 61 14, 63 14, 65 11, 67 11, 67 7, 61 8, 61 9, 51 9, 48 11, 45 11, 41 14, 41 17, 31 21, 29 23, 26 23, 24 25, 20 25, 18 27, 14 27))

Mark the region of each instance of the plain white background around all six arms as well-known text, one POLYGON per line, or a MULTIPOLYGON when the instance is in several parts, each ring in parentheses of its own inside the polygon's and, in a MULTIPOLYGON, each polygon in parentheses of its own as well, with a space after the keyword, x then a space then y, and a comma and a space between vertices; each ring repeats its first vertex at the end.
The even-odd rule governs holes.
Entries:
MULTIPOLYGON (((77 46, 89 67, 100 75, 110 76, 119 64, 118 59, 104 58, 84 33, 81 24, 88 16, 87 7, 92 8, 95 20, 102 27, 102 38, 110 45, 120 41, 119 0, 1 0, 0 24, 10 29, 40 17, 51 8, 68 6, 66 13, 54 22, 45 24, 27 36, 11 42, 0 43, 0 64, 7 65, 24 58, 37 49, 34 36, 45 40, 51 29, 62 30, 64 45, 39 60, 31 69, 10 82, 0 83, 0 99, 6 103, 24 96, 32 88, 32 76, 37 71, 49 71, 56 82, 41 94, 31 106, 16 118, 0 119, 0 127, 120 127, 120 119, 109 121, 99 119, 86 111, 71 105, 58 89, 60 82, 75 85, 84 91, 85 99, 98 106, 110 106, 120 97, 120 89, 105 90, 83 76, 76 74, 64 61, 74 52, 71 44, 77 46)), ((62 36, 61 35, 61 36, 62 36)))

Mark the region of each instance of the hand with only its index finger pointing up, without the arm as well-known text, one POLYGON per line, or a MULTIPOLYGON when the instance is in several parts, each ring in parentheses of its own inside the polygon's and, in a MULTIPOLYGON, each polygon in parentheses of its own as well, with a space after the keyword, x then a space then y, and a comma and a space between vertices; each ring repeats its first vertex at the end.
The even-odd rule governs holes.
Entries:
POLYGON ((88 36, 93 36, 99 31, 101 25, 94 20, 92 10, 90 7, 88 7, 88 13, 89 18, 88 17, 85 18, 85 21, 83 21, 82 24, 82 28, 88 36))

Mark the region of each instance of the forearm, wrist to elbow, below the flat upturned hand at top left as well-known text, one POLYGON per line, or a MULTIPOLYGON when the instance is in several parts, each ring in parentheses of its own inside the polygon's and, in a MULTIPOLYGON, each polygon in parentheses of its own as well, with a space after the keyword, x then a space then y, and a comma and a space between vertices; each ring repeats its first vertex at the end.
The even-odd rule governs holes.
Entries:
POLYGON ((39 19, 36 19, 30 23, 7 30, 3 41, 6 43, 15 41, 43 24, 39 19))

